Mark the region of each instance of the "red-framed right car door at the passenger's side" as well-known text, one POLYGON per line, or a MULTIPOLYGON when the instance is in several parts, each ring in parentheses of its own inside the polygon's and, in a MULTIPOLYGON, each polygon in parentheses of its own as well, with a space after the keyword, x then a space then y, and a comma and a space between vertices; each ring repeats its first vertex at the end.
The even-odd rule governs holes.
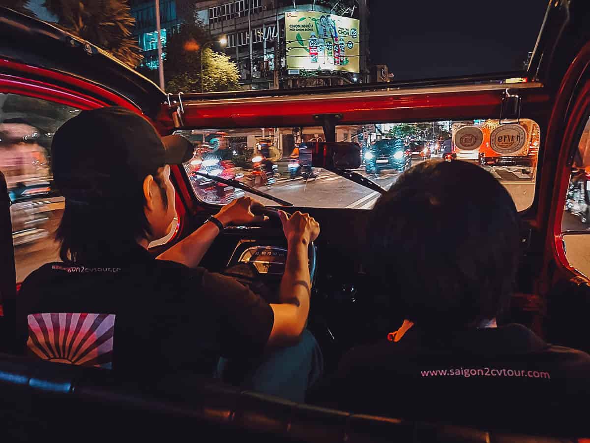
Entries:
MULTIPOLYGON (((584 323, 590 313, 590 230, 588 229, 588 188, 590 162, 586 146, 590 130, 590 82, 585 64, 590 61, 586 45, 563 79, 562 90, 571 90, 566 115, 552 115, 563 125, 556 158, 553 193, 548 196, 548 230, 545 241, 540 291, 545 292, 549 340, 590 351, 584 323), (578 62, 583 66, 578 66, 578 62), (576 67, 578 68, 576 70, 576 67), (573 79, 578 84, 573 86, 573 79), (568 82, 570 84, 568 84, 568 82), (573 87, 572 87, 573 86, 573 87)), ((562 99, 565 102, 567 96, 562 99)))

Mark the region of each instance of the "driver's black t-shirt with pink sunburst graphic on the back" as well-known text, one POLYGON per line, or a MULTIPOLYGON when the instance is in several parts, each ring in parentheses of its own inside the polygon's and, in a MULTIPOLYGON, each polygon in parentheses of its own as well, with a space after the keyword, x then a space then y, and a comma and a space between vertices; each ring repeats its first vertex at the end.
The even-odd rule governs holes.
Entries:
POLYGON ((135 374, 211 375, 219 356, 263 353, 270 305, 232 278, 140 246, 83 265, 48 263, 17 300, 17 337, 44 360, 135 374))

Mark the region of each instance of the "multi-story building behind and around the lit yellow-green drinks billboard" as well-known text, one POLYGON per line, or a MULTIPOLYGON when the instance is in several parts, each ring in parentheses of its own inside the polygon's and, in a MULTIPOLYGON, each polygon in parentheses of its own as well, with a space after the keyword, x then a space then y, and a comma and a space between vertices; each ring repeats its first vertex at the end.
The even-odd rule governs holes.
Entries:
POLYGON ((367 0, 201 0, 195 7, 212 38, 227 40, 225 53, 237 61, 245 87, 283 89, 368 81, 367 0), (300 69, 287 69, 290 41, 287 40, 286 13, 293 11, 358 19, 358 73, 332 69, 302 73, 300 69))

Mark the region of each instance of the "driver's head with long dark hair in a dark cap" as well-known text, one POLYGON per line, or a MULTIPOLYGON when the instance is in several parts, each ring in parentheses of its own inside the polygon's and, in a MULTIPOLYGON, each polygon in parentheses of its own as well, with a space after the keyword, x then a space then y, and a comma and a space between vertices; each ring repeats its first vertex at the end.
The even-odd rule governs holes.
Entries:
POLYGON ((51 151, 65 197, 57 230, 62 260, 110 258, 169 232, 176 210, 168 165, 192 157, 188 140, 160 138, 124 108, 100 108, 65 122, 51 151))

